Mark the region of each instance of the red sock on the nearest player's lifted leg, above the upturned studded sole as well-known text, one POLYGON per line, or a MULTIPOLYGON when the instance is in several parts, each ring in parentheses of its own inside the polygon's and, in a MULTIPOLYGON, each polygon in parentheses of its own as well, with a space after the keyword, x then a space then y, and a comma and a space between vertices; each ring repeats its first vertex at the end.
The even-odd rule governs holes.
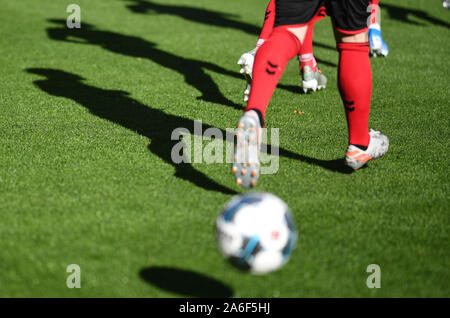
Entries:
POLYGON ((287 62, 297 55, 300 47, 300 41, 287 31, 286 27, 274 29, 270 38, 256 52, 252 90, 245 111, 256 109, 264 118, 270 98, 287 62))

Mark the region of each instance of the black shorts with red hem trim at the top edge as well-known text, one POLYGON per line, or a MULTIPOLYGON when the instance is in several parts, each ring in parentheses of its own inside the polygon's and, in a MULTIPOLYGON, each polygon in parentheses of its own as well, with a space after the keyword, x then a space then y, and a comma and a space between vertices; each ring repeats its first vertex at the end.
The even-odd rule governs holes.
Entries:
POLYGON ((335 27, 357 33, 368 27, 370 0, 276 0, 275 25, 307 24, 325 8, 335 27))

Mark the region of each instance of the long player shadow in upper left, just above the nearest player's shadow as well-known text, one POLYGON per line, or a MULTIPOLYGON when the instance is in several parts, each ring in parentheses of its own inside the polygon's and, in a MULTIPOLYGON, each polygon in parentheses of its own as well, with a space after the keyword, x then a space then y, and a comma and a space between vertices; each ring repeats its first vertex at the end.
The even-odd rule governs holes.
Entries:
MULTIPOLYGON (((241 105, 229 100, 220 92, 217 84, 205 70, 242 79, 242 75, 236 72, 228 71, 213 63, 183 58, 163 51, 157 48, 155 43, 148 42, 140 37, 98 30, 95 26, 88 23, 83 23, 81 29, 69 29, 65 20, 51 19, 49 21, 59 25, 59 27, 47 29, 48 36, 53 40, 98 45, 114 53, 148 59, 183 75, 187 84, 202 93, 202 96, 197 99, 238 110, 243 109, 241 105)), ((153 80, 157 81, 158 79, 154 78, 153 80)))

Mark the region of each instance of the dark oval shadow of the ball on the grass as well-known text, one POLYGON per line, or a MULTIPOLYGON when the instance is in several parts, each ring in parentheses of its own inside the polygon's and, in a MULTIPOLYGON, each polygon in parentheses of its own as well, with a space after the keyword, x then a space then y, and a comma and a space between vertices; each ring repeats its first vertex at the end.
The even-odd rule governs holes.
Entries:
POLYGON ((219 280, 193 271, 170 267, 148 267, 139 272, 152 286, 186 297, 229 298, 233 290, 219 280))

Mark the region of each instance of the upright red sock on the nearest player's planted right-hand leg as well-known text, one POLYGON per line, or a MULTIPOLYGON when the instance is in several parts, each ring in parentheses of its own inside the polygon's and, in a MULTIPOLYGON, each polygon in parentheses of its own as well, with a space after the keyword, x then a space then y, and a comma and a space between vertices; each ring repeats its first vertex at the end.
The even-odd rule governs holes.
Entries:
POLYGON ((369 43, 338 43, 338 84, 347 115, 349 143, 368 146, 372 69, 369 43))

